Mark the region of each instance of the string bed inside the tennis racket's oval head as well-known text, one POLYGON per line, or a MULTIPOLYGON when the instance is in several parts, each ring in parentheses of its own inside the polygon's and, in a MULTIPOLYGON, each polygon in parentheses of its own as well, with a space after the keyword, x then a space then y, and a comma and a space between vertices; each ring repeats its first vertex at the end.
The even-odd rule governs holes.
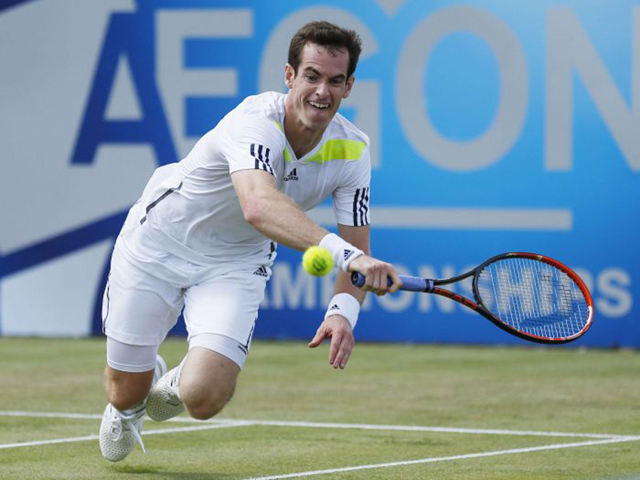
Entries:
POLYGON ((478 275, 477 291, 493 316, 527 335, 568 338, 588 321, 578 285, 538 260, 511 257, 489 264, 478 275))

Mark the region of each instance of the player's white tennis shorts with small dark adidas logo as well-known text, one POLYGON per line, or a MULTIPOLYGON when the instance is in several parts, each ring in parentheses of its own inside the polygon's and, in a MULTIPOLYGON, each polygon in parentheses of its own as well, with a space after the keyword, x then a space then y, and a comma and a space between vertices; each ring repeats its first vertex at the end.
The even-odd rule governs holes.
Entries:
POLYGON ((104 333, 124 344, 157 347, 184 308, 189 346, 218 351, 242 367, 275 255, 263 263, 200 266, 152 248, 147 242, 148 255, 134 254, 118 237, 102 303, 104 333), (203 333, 230 342, 208 346, 202 339, 211 335, 203 333))

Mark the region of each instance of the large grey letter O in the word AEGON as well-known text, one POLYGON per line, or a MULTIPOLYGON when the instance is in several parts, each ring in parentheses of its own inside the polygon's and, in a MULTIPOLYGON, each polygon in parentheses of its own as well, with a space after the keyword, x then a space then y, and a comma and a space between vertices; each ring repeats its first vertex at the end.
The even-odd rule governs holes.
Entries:
POLYGON ((409 35, 396 72, 396 104, 404 134, 422 157, 444 170, 468 172, 498 161, 520 136, 529 96, 524 53, 502 20, 474 6, 444 8, 409 35), (492 49, 500 73, 500 103, 493 124, 474 140, 444 138, 429 120, 426 66, 438 42, 455 31, 479 36, 492 49))

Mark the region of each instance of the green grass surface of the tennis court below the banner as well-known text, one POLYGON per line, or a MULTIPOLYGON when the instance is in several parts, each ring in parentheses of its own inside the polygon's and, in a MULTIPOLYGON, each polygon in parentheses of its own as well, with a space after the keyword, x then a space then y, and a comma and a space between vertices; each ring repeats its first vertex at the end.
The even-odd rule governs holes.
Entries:
MULTIPOLYGON (((161 353, 175 365, 184 340, 161 353)), ((285 420, 640 435, 640 354, 559 348, 358 344, 345 371, 326 345, 254 342, 218 419, 285 420)), ((100 414, 102 340, 0 339, 0 410, 100 414)), ((145 422, 145 431, 202 423, 145 422)), ((0 445, 97 434, 99 419, 0 414, 0 445)), ((302 426, 235 426, 145 435, 124 461, 97 440, 0 448, 0 479, 207 479, 447 458, 594 440, 302 426)), ((307 476, 308 477, 308 476, 307 476)), ((326 473, 328 479, 640 478, 640 440, 326 473)))

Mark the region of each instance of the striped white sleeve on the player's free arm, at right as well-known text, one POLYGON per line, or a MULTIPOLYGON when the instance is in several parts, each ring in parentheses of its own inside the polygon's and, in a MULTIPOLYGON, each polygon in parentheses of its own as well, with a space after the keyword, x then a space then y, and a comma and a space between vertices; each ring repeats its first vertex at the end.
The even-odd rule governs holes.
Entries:
POLYGON ((351 227, 369 225, 369 145, 364 148, 360 159, 346 163, 343 178, 342 184, 333 191, 333 211, 337 222, 351 227))

